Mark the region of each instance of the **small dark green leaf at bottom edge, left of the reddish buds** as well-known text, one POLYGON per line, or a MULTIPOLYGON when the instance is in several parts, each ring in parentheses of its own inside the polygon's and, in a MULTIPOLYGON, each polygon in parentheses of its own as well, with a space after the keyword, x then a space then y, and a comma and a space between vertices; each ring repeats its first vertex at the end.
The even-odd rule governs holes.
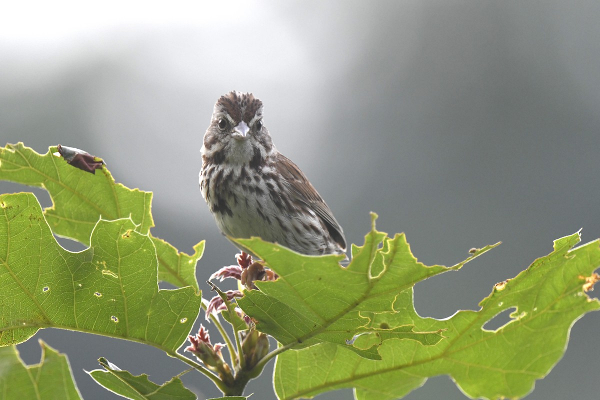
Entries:
MULTIPOLYGON (((98 359, 102 369, 94 369, 88 374, 97 383, 111 392, 132 400, 196 400, 196 395, 186 389, 178 377, 162 385, 148 379, 148 375, 131 375, 122 371, 104 357, 98 359)), ((87 371, 86 371, 87 372, 87 371)))

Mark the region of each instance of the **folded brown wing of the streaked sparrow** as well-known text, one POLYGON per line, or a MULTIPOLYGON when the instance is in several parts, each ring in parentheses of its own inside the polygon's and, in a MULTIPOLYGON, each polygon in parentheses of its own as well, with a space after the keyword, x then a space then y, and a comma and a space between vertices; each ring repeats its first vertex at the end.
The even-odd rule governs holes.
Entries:
POLYGON ((335 240, 343 251, 346 251, 346 238, 340 224, 335 219, 328 205, 319 196, 316 189, 308 181, 304 173, 283 154, 278 154, 278 162, 275 166, 278 172, 290 183, 292 192, 296 196, 295 201, 307 204, 323 221, 332 239, 335 240))

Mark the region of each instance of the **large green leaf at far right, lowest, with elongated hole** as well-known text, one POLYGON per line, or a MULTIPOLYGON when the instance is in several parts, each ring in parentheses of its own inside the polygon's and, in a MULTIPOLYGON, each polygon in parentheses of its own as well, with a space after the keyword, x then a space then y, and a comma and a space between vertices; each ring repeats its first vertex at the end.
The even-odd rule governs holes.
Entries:
MULTIPOLYGON (((450 375, 470 398, 527 395, 535 380, 545 377, 562 357, 572 324, 586 312, 600 309, 598 299, 586 294, 600 279, 593 273, 600 265, 600 241, 572 249, 579 241, 577 233, 556 240, 549 255, 494 285, 490 296, 479 303, 479 311, 458 311, 447 320, 422 318, 421 329, 445 329, 445 339, 435 345, 388 339, 379 346, 380 361, 329 343, 280 354, 274 377, 277 395, 310 398, 354 387, 358 400, 391 400, 442 374, 450 375), (512 308, 516 311, 508 324, 483 329, 512 308)), ((409 257, 406 250, 402 258, 409 257)), ((403 306, 412 314, 412 300, 407 300, 402 300, 403 306)))

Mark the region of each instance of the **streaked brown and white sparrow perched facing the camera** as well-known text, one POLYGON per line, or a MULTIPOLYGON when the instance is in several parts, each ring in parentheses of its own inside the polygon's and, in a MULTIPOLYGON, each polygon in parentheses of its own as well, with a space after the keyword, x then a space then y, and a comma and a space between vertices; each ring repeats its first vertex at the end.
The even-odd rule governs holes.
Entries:
POLYGON ((302 254, 342 254, 346 239, 302 171, 275 149, 262 101, 230 92, 214 107, 202 146, 200 190, 223 233, 259 236, 302 254))

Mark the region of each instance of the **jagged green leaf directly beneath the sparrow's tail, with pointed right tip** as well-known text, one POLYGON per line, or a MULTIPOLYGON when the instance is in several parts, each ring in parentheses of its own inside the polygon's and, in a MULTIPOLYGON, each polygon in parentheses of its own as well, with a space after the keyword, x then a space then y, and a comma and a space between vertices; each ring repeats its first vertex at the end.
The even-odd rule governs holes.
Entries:
POLYGON ((410 254, 403 234, 390 239, 376 231, 375 218, 365 245, 353 247, 347 268, 338 263, 339 255, 311 257, 258 238, 237 239, 280 276, 277 281, 256 282, 260 291, 245 291, 237 300, 256 320, 256 329, 287 347, 329 342, 369 359, 381 358, 378 347, 386 339, 411 339, 427 346, 441 341, 447 328, 431 327, 416 314, 413 285, 459 269, 493 246, 454 267, 425 267, 410 254))

